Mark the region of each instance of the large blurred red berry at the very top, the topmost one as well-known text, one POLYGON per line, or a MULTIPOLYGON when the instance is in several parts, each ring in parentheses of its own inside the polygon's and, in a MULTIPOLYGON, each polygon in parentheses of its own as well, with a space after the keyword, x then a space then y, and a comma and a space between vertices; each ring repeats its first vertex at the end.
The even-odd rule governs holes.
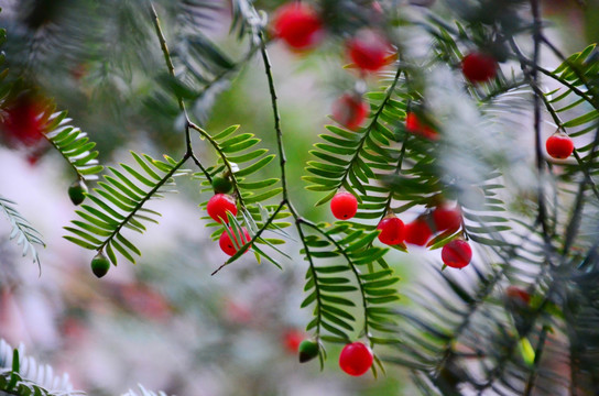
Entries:
POLYGON ((323 22, 316 11, 300 2, 290 2, 276 10, 273 33, 290 47, 307 50, 323 37, 323 22))

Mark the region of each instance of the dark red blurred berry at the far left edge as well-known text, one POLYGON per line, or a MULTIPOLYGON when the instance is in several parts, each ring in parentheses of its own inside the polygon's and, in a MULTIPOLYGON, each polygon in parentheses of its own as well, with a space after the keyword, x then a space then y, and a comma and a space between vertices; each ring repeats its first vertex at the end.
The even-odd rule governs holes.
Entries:
POLYGON ((33 146, 44 138, 43 112, 42 105, 35 99, 30 96, 20 97, 7 109, 1 127, 9 140, 33 146))

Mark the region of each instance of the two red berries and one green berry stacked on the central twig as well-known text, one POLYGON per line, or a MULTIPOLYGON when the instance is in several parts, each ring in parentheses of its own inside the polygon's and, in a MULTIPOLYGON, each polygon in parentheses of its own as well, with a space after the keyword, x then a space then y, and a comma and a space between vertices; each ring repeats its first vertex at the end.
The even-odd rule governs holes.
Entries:
MULTIPOLYGON (((206 205, 206 211, 208 216, 218 223, 229 223, 228 213, 237 216, 237 204, 232 196, 228 195, 232 189, 232 184, 228 177, 215 177, 213 180, 213 188, 215 195, 208 200, 206 205)), ((241 227, 241 233, 238 235, 235 230, 229 227, 228 230, 224 230, 218 239, 218 245, 220 250, 232 256, 237 251, 251 240, 250 233, 244 227, 241 227), (231 239, 232 235, 232 239, 231 239), (240 241, 238 241, 238 238, 240 241)), ((247 251, 246 251, 247 252, 247 251)))

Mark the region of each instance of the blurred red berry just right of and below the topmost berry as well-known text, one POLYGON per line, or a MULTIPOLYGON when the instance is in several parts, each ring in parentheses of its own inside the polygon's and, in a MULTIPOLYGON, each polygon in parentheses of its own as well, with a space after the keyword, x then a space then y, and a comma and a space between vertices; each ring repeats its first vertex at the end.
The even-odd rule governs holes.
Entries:
POLYGON ((391 46, 380 34, 371 30, 361 30, 346 43, 350 59, 367 72, 377 72, 386 64, 391 46))

